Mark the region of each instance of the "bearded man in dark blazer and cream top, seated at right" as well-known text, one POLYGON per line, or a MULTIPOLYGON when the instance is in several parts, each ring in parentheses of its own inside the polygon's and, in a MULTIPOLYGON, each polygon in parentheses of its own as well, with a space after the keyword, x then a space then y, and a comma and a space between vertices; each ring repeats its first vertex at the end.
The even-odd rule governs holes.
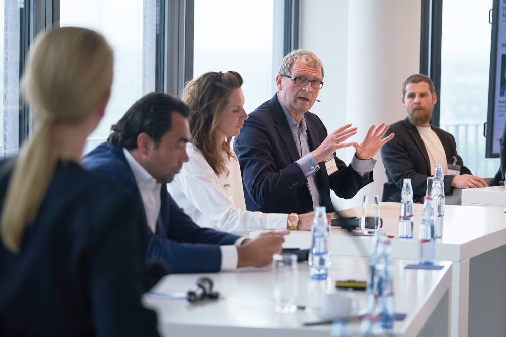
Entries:
POLYGON ((409 76, 402 85, 402 105, 408 116, 392 125, 387 134, 395 138, 381 149, 388 181, 383 185, 383 201, 401 200, 402 180, 411 179, 413 201, 425 196, 427 178, 442 164, 445 194, 453 187, 475 188, 487 184, 463 165, 453 136, 429 122, 436 104, 432 80, 421 74, 409 76))

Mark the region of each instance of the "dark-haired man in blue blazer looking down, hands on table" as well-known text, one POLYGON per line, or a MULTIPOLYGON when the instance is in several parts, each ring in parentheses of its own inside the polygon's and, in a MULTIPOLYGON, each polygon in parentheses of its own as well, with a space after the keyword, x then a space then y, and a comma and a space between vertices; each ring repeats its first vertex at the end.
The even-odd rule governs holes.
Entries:
POLYGON ((148 94, 112 126, 107 143, 90 152, 83 164, 132 189, 144 206, 147 262, 161 258, 173 273, 269 264, 272 255, 281 251, 287 231, 250 240, 201 228, 168 194, 166 183, 188 161, 188 114, 181 100, 164 93, 148 94))

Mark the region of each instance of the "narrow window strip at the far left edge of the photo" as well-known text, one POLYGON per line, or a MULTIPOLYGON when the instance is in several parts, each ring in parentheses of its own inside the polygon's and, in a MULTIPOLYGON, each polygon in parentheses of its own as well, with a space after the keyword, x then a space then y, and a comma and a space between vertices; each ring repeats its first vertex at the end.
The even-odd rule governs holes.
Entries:
POLYGON ((2 13, 0 25, 3 27, 0 42, 0 158, 12 156, 18 152, 19 130, 19 26, 20 8, 17 1, 0 0, 2 13))

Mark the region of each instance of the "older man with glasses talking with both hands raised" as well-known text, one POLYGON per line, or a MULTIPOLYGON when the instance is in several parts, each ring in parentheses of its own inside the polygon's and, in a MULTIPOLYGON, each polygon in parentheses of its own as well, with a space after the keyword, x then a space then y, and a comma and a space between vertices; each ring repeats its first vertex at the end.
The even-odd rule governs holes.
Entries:
POLYGON ((309 112, 323 87, 323 64, 310 51, 286 55, 276 85, 278 92, 249 114, 234 141, 246 207, 305 213, 325 206, 332 212, 330 189, 349 199, 371 183, 376 163, 372 157, 394 135, 382 139, 388 129, 385 123, 371 126, 360 144, 344 142, 357 133, 351 124, 327 134, 322 121, 309 112), (349 146, 356 153, 346 166, 335 151, 349 146))

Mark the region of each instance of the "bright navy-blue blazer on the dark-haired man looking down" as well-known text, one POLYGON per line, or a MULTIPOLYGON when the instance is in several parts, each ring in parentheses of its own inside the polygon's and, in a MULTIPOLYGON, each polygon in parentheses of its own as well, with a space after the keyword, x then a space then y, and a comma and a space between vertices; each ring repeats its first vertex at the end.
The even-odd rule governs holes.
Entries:
MULTIPOLYGON (((143 205, 134 174, 121 148, 102 143, 85 157, 83 164, 88 170, 119 181, 134 193, 137 203, 143 205)), ((166 184, 162 185, 160 194, 156 233, 148 227, 142 206, 147 262, 162 258, 170 265, 172 273, 219 271, 219 245, 233 245, 239 236, 196 225, 168 194, 166 184)))

